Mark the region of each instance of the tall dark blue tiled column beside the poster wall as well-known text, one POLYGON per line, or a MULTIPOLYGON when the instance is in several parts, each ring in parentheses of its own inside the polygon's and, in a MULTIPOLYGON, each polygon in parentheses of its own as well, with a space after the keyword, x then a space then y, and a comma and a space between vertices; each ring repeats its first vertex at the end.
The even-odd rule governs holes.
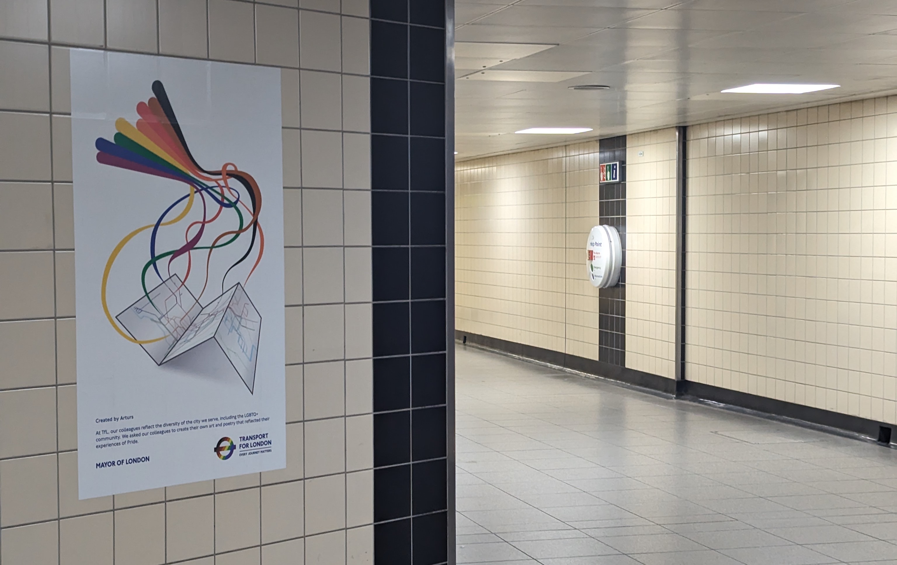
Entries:
POLYGON ((450 14, 445 0, 370 1, 377 565, 439 565, 454 551, 450 14))

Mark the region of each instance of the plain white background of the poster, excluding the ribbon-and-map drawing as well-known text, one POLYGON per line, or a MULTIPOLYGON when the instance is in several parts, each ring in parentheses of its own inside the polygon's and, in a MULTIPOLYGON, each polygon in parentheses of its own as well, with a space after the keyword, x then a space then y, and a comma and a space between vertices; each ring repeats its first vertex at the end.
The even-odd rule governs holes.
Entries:
MULTIPOLYGON (((280 71, 73 49, 71 81, 80 498, 285 467, 280 71), (102 273, 115 246, 136 228, 154 224, 172 202, 188 193, 185 183, 97 162, 97 138, 113 141, 118 117, 136 124, 136 105, 154 96, 156 80, 164 84, 199 166, 218 170, 224 163, 234 163, 256 179, 262 193, 259 223, 265 254, 245 284, 262 319, 252 392, 228 358, 217 355, 221 351, 197 355, 187 351, 155 364, 142 347, 118 334, 102 309, 102 273), (108 418, 112 421, 104 421, 108 418), (126 428, 130 430, 122 432, 126 428), (262 445, 270 441, 269 451, 250 449, 257 441, 239 441, 262 434, 267 434, 262 445), (227 459, 215 451, 222 437, 235 444, 227 459), (115 446, 118 442, 121 445, 115 446), (248 453, 241 456, 242 451, 248 453)), ((242 186, 231 183, 248 204, 242 186)), ((211 215, 218 207, 209 197, 205 200, 211 215)), ((180 210, 183 202, 166 219, 180 210)), ((249 212, 242 211, 248 218, 249 212)), ((197 194, 186 219, 201 218, 197 194)), ((231 220, 222 219, 220 227, 210 224, 200 245, 210 244, 224 229, 234 229, 237 222, 231 220)), ((160 228, 156 253, 183 245, 188 223, 160 228)), ((151 231, 126 244, 110 271, 107 296, 113 316, 144 295, 140 273, 150 258, 151 231)), ((196 228, 191 232, 195 234, 196 228)), ((231 246, 215 250, 201 305, 222 295, 224 271, 245 253, 249 236, 247 232, 231 246)), ((205 278, 206 253, 192 253, 187 287, 196 296, 205 278)), ((223 290, 244 283, 256 255, 253 251, 231 270, 223 290)), ((171 273, 183 278, 186 259, 185 255, 176 260, 171 273)), ((167 264, 167 260, 159 263, 163 276, 167 264)), ((160 282, 152 270, 147 273, 148 288, 160 282)), ((196 349, 202 347, 217 346, 207 342, 196 349)))

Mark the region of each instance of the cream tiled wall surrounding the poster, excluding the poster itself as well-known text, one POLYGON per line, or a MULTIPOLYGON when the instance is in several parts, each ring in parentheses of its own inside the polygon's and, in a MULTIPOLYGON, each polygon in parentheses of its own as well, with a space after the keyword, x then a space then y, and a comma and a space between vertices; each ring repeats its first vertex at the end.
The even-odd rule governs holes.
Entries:
POLYGON ((0 2, 0 564, 373 561, 368 15, 0 2), (286 469, 78 501, 68 47, 283 68, 286 469))

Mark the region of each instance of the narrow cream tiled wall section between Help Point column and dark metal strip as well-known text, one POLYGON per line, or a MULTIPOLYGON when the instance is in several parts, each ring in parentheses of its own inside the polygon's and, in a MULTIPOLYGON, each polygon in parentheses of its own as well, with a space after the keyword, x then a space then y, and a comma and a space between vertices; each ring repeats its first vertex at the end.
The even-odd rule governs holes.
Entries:
POLYGON ((626 366, 675 378, 675 129, 628 136, 626 366))

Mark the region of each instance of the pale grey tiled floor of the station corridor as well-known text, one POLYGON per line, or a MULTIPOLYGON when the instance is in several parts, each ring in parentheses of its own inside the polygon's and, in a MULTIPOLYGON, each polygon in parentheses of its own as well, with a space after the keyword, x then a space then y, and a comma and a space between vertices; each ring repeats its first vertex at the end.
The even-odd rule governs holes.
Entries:
POLYGON ((897 451, 457 350, 458 563, 897 564, 897 451))

